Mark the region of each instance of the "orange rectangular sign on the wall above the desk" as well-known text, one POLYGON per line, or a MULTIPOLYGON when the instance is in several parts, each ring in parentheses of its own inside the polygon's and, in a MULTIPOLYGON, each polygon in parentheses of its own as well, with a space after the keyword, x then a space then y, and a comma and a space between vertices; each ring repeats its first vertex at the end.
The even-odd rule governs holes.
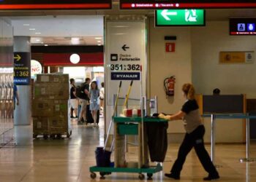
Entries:
POLYGON ((219 52, 219 63, 253 63, 255 52, 219 52))

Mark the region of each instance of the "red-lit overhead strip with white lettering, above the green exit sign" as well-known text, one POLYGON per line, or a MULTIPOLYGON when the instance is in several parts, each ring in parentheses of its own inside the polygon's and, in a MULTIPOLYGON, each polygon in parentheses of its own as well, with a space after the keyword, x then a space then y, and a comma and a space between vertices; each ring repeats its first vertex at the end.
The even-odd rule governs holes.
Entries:
POLYGON ((255 0, 120 0, 121 9, 254 8, 255 0))

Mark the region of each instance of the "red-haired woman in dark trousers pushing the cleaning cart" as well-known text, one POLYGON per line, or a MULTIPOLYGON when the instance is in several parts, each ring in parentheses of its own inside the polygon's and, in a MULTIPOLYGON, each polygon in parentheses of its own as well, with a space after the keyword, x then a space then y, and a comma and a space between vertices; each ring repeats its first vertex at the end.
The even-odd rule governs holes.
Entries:
POLYGON ((208 172, 208 176, 203 178, 203 180, 216 180, 219 178, 219 173, 211 162, 211 158, 204 146, 203 135, 205 134, 205 127, 201 122, 199 107, 195 100, 195 89, 192 84, 184 84, 182 91, 184 92, 186 102, 182 106, 181 111, 173 115, 159 114, 159 118, 170 121, 183 119, 186 130, 184 141, 178 149, 178 158, 174 162, 170 173, 166 173, 165 176, 178 180, 187 154, 189 154, 189 151, 194 147, 197 157, 200 159, 204 169, 208 172))

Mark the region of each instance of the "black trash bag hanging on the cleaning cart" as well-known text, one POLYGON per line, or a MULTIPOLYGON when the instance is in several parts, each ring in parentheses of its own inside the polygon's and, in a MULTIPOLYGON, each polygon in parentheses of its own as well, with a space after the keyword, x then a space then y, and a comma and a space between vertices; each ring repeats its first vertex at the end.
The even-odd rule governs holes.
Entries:
POLYGON ((167 151, 168 122, 145 122, 151 162, 164 162, 167 151))

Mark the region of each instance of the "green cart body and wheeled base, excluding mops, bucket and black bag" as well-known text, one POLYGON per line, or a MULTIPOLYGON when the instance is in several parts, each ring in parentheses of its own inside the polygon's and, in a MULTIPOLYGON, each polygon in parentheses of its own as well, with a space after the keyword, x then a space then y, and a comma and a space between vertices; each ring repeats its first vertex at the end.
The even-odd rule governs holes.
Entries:
POLYGON ((145 122, 167 122, 165 119, 148 117, 113 117, 114 123, 114 166, 113 167, 90 167, 91 178, 96 178, 99 172, 101 178, 111 173, 138 173, 140 180, 145 178, 144 173, 149 179, 154 173, 162 171, 162 165, 149 166, 148 146, 146 130, 143 127, 145 122), (125 136, 138 135, 138 161, 127 162, 125 151, 125 136))

